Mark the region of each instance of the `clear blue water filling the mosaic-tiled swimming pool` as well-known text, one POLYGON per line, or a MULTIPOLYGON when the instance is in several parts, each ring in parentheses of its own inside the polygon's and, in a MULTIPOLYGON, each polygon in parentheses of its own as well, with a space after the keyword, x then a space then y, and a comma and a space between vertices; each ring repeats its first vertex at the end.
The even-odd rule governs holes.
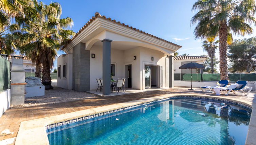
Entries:
POLYGON ((242 145, 251 114, 202 100, 167 100, 48 131, 50 145, 242 145))

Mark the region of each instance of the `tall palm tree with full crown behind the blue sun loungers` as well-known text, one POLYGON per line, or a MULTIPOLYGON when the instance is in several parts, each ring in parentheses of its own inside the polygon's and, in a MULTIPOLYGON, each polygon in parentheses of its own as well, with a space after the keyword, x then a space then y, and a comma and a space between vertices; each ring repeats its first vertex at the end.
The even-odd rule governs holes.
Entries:
POLYGON ((232 34, 252 34, 250 24, 254 18, 255 0, 197 0, 192 10, 198 10, 191 19, 196 25, 195 38, 214 40, 219 37, 220 79, 228 80, 227 43, 232 42, 232 34))

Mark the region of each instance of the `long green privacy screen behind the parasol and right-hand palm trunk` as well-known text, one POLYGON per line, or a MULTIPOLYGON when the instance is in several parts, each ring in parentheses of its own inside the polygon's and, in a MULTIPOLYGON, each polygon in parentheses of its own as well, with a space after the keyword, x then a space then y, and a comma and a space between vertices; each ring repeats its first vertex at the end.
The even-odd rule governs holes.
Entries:
MULTIPOLYGON (((228 74, 231 82, 256 81, 256 74, 228 74)), ((191 81, 191 74, 174 74, 174 80, 191 81)), ((192 74, 192 81, 220 81, 220 74, 192 74)))

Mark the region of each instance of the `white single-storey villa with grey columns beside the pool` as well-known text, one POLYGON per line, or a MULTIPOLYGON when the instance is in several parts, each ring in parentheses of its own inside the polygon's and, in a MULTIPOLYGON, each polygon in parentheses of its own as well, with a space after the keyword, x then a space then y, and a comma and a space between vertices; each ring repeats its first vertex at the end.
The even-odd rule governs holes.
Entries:
POLYGON ((114 80, 126 78, 125 87, 132 89, 173 87, 172 56, 179 48, 96 12, 58 57, 57 86, 94 90, 96 79, 103 78, 103 95, 109 95, 112 73, 114 80))

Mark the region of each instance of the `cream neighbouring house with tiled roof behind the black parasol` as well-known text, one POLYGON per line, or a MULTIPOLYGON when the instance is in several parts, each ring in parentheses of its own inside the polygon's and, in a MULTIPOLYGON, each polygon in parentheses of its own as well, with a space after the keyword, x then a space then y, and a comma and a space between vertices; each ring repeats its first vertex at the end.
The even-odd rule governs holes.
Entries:
MULTIPOLYGON (((174 74, 190 74, 190 69, 179 69, 179 67, 183 64, 189 62, 196 62, 199 64, 203 64, 206 56, 175 56, 174 57, 174 74)), ((196 69, 192 69, 192 73, 196 73, 196 69)), ((200 69, 198 73, 203 73, 203 69, 200 69)))

